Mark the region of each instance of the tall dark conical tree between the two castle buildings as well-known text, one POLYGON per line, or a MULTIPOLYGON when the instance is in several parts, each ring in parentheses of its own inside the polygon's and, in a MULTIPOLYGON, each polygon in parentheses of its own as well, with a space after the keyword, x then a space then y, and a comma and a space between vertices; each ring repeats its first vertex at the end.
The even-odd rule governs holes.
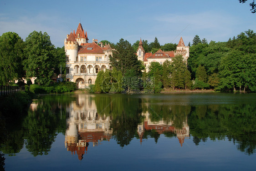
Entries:
POLYGON ((117 43, 116 50, 113 51, 113 56, 109 58, 111 65, 117 70, 120 70, 123 75, 128 70, 134 70, 135 75, 141 76, 141 70, 144 69, 144 65, 138 60, 138 56, 135 55, 132 45, 127 41, 120 39, 117 43))

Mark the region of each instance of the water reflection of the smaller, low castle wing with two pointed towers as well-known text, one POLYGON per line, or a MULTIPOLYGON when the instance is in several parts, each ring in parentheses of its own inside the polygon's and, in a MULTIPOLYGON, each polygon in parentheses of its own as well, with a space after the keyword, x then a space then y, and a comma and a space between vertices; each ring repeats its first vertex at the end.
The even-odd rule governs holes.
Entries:
POLYGON ((143 133, 145 130, 155 130, 158 132, 158 134, 163 134, 164 132, 168 131, 174 132, 177 135, 177 138, 179 139, 180 146, 183 145, 185 138, 189 138, 189 125, 187 123, 187 120, 183 122, 182 128, 175 128, 174 126, 172 126, 172 121, 166 123, 162 119, 161 121, 152 122, 149 118, 150 114, 148 111, 142 113, 142 115, 146 118, 143 121, 143 124, 138 125, 137 132, 139 135, 140 143, 142 143, 143 133))

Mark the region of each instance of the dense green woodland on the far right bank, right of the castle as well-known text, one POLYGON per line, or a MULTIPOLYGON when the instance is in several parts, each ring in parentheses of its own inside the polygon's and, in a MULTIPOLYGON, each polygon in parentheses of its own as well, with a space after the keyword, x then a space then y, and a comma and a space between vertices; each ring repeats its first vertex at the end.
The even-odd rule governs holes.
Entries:
POLYGON ((256 33, 252 30, 227 42, 192 45, 189 52, 188 68, 198 84, 194 88, 256 91, 256 33))

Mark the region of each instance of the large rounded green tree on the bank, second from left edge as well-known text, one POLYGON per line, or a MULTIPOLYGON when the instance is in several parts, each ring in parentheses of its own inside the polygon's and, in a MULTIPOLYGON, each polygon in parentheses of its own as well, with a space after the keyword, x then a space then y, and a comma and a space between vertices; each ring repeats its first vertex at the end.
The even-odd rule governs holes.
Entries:
POLYGON ((24 61, 26 77, 36 77, 40 85, 49 85, 54 73, 54 45, 51 44, 47 33, 33 31, 26 38, 25 52, 27 59, 24 61))

